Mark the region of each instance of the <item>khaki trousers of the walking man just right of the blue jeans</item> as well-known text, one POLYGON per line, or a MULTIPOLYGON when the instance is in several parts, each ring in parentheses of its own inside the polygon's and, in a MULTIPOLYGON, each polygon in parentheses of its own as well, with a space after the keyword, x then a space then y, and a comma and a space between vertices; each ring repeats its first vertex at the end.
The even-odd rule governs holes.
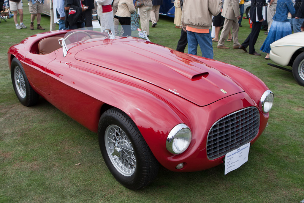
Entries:
POLYGON ((228 36, 231 27, 232 27, 233 46, 240 46, 238 40, 239 22, 237 18, 235 18, 234 20, 225 18, 224 28, 221 32, 221 36, 219 37, 219 42, 217 43, 217 46, 224 46, 225 40, 228 36))

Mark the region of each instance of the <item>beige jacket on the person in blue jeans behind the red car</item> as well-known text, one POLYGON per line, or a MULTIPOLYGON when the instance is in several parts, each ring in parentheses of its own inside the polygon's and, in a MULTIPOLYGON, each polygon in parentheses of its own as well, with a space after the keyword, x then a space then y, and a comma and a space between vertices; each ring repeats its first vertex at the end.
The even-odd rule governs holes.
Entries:
POLYGON ((184 0, 181 23, 198 29, 210 29, 212 15, 217 16, 222 9, 221 0, 184 0))

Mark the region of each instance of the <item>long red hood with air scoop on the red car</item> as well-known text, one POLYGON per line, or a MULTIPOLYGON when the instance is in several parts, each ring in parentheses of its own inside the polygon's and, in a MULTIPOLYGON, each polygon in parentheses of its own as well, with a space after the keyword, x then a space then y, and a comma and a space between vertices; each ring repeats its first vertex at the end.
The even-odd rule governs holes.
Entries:
POLYGON ((144 40, 96 45, 75 58, 149 82, 199 106, 244 92, 216 67, 144 40))

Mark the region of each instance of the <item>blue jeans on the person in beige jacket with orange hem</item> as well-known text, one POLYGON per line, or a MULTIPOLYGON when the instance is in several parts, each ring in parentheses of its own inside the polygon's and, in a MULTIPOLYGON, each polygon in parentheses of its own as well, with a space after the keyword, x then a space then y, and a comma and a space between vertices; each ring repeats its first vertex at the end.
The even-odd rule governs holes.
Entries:
POLYGON ((187 30, 188 54, 197 54, 197 45, 202 51, 202 57, 213 59, 211 31, 209 33, 195 33, 187 30))

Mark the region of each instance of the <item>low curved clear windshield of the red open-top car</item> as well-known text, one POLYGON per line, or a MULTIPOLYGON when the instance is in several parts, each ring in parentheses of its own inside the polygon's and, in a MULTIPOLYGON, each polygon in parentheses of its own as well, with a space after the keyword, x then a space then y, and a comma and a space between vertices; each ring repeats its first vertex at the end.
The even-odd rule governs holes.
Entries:
POLYGON ((86 40, 97 39, 97 38, 108 38, 115 39, 121 36, 139 37, 150 41, 142 30, 130 25, 118 25, 113 27, 111 30, 105 27, 84 27, 76 30, 67 32, 64 36, 64 43, 66 44, 67 51, 73 46, 85 42, 86 40))

